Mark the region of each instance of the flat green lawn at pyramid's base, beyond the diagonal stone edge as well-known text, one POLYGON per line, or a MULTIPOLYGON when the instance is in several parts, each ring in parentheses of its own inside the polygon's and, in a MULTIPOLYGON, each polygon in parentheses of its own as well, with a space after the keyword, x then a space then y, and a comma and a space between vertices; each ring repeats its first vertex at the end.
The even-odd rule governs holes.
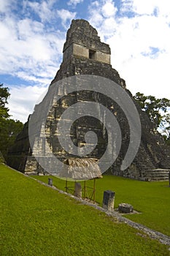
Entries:
MULTIPOLYGON (((53 178, 55 187, 65 191, 65 181, 53 178)), ((49 176, 34 176, 47 183, 49 176)), ((93 181, 87 181, 93 187, 93 181)), ((69 186, 74 182, 69 181, 69 186)), ((83 184, 82 184, 83 187, 83 184)), ((128 219, 170 236, 169 181, 144 182, 117 176, 104 176, 96 180, 96 201, 101 206, 104 190, 115 191, 115 208, 119 203, 130 203, 142 214, 126 215, 128 219)))

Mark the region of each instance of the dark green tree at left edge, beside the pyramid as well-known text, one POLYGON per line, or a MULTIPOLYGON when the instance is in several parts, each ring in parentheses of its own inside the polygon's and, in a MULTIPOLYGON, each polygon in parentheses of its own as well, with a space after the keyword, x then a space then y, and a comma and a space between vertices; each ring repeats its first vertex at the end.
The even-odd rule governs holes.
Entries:
POLYGON ((20 121, 9 118, 9 108, 6 107, 9 95, 9 89, 0 84, 0 151, 4 158, 7 158, 8 148, 23 129, 20 121))

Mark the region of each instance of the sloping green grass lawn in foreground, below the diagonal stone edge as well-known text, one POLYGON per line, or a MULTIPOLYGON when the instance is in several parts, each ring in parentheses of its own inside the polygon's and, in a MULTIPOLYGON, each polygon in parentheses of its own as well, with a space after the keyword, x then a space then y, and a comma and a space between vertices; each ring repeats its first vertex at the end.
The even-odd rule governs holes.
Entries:
MULTIPOLYGON (((0 188, 1 256, 170 255, 168 246, 139 230, 4 165, 0 165, 0 188)), ((123 199, 128 198, 126 193, 123 199)))

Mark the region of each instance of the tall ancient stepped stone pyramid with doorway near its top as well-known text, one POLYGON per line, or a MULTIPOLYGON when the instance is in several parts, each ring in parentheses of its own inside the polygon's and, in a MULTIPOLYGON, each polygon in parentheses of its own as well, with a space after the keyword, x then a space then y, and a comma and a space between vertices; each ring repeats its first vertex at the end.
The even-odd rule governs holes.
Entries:
MULTIPOLYGON (((23 131, 18 135, 14 146, 10 148, 7 161, 8 165, 24 173, 45 174, 47 170, 44 170, 39 165, 37 156, 42 161, 47 161, 47 165, 53 165, 53 158, 50 158, 50 153, 48 155, 49 148, 53 151, 53 155, 61 162, 77 157, 62 148, 58 139, 58 136, 60 137, 57 130, 58 120, 67 108, 72 108, 73 104, 92 101, 99 102, 109 109, 117 119, 121 129, 122 142, 120 153, 107 172, 117 176, 141 180, 163 180, 168 178, 170 169, 169 147, 164 145, 163 139, 155 130, 154 124, 152 124, 147 114, 134 101, 131 92, 126 89, 125 80, 120 78, 118 72, 112 68, 110 54, 109 45, 101 42, 96 29, 90 26, 88 21, 72 20, 70 29, 67 31, 66 42, 63 46, 63 62, 61 63, 61 67, 55 75, 45 99, 39 105, 36 105, 34 113, 30 117, 32 119, 28 118, 23 131), (134 161, 125 170, 121 170, 120 166, 128 151, 128 144, 131 142, 130 128, 125 113, 123 113, 117 102, 99 92, 83 89, 79 92, 74 91, 69 95, 64 94, 58 101, 55 99, 52 102, 49 101, 49 95, 55 83, 63 80, 63 78, 72 78, 73 76, 77 78, 78 83, 82 83, 83 78, 80 75, 99 76, 114 81, 131 97, 138 110, 142 126, 140 146, 134 161), (43 122, 42 114, 45 109, 48 110, 47 118, 43 122), (32 147, 28 139, 28 125, 30 120, 35 125, 36 131, 36 136, 34 137, 34 141, 32 141, 32 147), (46 158, 42 152, 46 154, 46 158), (36 154, 36 158, 34 154, 36 154)), ((60 93, 60 91, 57 92, 58 94, 60 93)), ((108 134, 104 124, 91 116, 82 116, 74 121, 70 130, 74 146, 80 148, 85 146, 85 133, 89 131, 96 132, 98 143, 93 151, 85 156, 86 159, 100 159, 104 151, 106 151, 108 143, 110 151, 113 151, 114 146, 108 140, 108 134)), ((53 168, 58 169, 57 166, 53 166, 53 168)))

